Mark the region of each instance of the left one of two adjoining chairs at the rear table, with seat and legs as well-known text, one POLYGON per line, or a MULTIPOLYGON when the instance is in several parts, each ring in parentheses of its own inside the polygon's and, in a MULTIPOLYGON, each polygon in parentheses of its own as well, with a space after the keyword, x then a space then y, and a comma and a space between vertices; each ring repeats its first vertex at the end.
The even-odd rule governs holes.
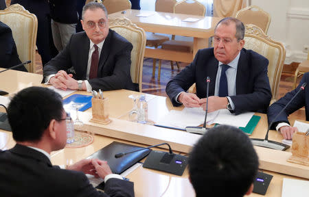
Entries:
MULTIPOLYGON (((155 3, 155 11, 156 12, 174 12, 174 5, 176 4, 176 0, 157 0, 155 3)), ((146 46, 147 47, 159 47, 161 44, 167 40, 170 40, 168 36, 158 35, 152 32, 146 32, 146 46)), ((159 68, 161 68, 161 60, 159 61, 159 68)), ((153 59, 152 62, 152 77, 155 77, 156 72, 156 64, 157 59, 153 59)), ((174 66, 171 62, 171 68, 174 69, 174 66)), ((158 73, 158 80, 160 80, 158 73)))

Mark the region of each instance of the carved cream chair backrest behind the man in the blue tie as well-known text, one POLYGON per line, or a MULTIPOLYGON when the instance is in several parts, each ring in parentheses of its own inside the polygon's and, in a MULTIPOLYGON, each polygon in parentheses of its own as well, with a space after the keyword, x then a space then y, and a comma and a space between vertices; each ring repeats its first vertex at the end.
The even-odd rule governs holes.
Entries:
POLYGON ((244 34, 244 48, 251 49, 263 55, 269 61, 268 79, 271 85, 271 92, 273 93, 272 101, 275 101, 277 99, 279 81, 286 58, 284 44, 266 36, 264 31, 256 25, 247 24, 244 27, 246 29, 244 34))

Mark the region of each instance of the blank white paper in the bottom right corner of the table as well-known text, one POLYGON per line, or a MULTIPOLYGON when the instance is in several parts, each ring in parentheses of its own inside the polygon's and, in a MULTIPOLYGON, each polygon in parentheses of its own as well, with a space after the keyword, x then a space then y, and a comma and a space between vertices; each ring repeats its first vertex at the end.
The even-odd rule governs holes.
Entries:
POLYGON ((307 197, 309 194, 309 181, 284 178, 282 197, 307 197))

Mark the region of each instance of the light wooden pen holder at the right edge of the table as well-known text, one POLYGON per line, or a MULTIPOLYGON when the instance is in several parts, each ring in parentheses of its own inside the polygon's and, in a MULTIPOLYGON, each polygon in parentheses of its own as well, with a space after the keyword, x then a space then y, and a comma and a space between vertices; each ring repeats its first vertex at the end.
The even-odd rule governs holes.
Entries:
POLYGON ((294 133, 292 156, 288 161, 309 166, 309 136, 306 136, 305 133, 294 133))

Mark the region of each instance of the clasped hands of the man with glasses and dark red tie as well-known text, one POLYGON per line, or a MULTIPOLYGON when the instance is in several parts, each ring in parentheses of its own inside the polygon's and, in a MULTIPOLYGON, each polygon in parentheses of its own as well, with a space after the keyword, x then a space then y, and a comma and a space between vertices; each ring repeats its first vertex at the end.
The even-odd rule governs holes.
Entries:
POLYGON ((76 79, 73 79, 72 74, 67 74, 65 70, 59 70, 54 77, 49 79, 49 83, 61 90, 67 90, 68 88, 78 90, 78 82, 76 79))

